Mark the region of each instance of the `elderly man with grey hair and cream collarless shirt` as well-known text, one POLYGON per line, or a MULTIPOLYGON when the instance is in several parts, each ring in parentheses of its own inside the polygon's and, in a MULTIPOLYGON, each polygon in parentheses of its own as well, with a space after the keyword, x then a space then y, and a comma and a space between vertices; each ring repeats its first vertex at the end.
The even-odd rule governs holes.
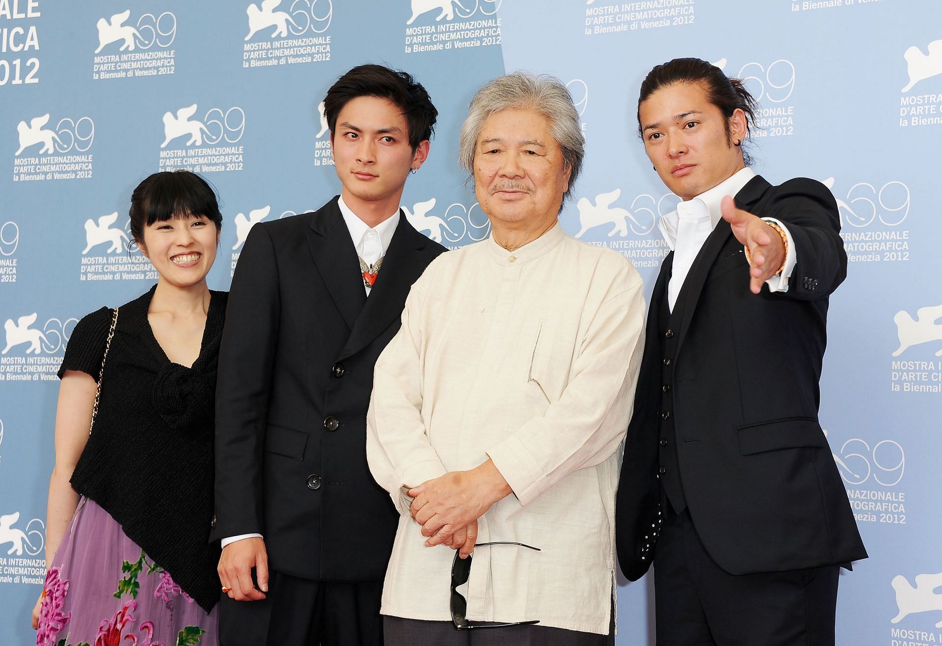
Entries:
POLYGON ((461 163, 492 234, 414 283, 367 415, 401 514, 386 644, 611 643, 644 302, 622 255, 562 231, 583 154, 554 78, 501 76, 471 102, 461 163))

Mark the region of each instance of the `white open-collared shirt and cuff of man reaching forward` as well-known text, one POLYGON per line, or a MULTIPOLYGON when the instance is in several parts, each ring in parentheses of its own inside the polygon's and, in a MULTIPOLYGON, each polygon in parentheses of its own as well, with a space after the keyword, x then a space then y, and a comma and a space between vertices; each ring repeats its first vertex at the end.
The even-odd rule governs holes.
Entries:
MULTIPOLYGON (((735 197, 742 187, 746 186, 754 177, 755 172, 746 167, 692 200, 680 202, 677 204, 675 211, 668 213, 666 216, 661 216, 658 227, 661 234, 664 235, 664 239, 667 240, 668 246, 674 251, 674 266, 671 271, 671 280, 667 284, 667 303, 672 312, 674 311, 674 303, 677 302, 677 295, 680 294, 680 288, 690 272, 690 266, 693 265, 693 261, 700 252, 700 248, 707 241, 709 234, 723 219, 720 202, 723 202, 723 198, 727 195, 735 197)), ((788 279, 795 268, 795 245, 785 224, 775 218, 762 219, 774 222, 782 227, 782 231, 785 232, 788 238, 785 267, 781 273, 766 281, 766 284, 769 285, 769 291, 787 292, 788 279)))

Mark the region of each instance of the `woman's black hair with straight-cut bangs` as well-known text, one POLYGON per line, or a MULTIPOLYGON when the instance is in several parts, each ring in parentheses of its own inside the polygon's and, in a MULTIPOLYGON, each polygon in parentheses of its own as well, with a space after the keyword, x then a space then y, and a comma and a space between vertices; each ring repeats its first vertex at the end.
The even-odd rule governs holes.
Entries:
POLYGON ((171 218, 203 216, 222 230, 216 191, 195 172, 163 170, 147 177, 131 193, 131 236, 144 239, 144 228, 171 218))

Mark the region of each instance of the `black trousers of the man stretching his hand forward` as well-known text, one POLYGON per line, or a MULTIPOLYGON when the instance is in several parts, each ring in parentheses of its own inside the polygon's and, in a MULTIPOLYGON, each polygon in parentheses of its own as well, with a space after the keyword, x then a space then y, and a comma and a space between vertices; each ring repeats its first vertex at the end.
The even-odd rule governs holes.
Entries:
POLYGON ((726 573, 690 511, 663 509, 654 559, 658 645, 834 646, 838 566, 726 573))

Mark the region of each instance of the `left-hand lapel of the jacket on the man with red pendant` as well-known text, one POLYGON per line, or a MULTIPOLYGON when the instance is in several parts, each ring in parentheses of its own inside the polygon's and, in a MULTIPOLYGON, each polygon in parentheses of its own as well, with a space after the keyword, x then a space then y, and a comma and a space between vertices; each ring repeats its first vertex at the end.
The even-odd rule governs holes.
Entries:
POLYGON ((320 277, 327 285, 340 315, 352 330, 357 316, 363 310, 366 292, 356 248, 353 247, 337 200, 333 198, 324 204, 311 218, 307 241, 320 277))

